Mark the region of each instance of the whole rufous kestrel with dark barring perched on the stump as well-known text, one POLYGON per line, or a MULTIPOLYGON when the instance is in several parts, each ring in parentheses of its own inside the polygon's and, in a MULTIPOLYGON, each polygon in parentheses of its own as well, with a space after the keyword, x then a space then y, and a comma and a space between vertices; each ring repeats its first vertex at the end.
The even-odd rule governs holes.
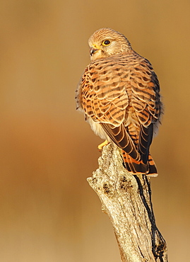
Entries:
POLYGON ((158 176, 149 153, 158 131, 162 102, 158 78, 150 62, 129 40, 102 28, 89 41, 91 62, 76 90, 77 109, 96 135, 122 149, 124 166, 133 174, 158 176))

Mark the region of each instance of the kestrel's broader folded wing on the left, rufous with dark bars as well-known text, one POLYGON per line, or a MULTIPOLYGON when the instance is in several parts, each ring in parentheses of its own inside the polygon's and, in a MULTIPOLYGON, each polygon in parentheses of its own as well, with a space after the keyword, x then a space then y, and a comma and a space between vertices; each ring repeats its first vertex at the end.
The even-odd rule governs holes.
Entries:
POLYGON ((91 63, 81 79, 81 97, 85 115, 100 123, 107 135, 120 148, 139 159, 138 151, 124 127, 129 96, 124 67, 113 59, 91 63))

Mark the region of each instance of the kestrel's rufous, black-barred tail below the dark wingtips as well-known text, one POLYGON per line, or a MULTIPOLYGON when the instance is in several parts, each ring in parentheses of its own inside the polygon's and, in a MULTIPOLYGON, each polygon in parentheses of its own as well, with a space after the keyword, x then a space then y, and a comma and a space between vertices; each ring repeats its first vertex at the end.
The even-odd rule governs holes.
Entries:
POLYGON ((129 154, 122 150, 124 166, 129 173, 133 174, 146 174, 147 176, 158 176, 158 171, 155 166, 155 162, 153 161, 150 153, 148 154, 147 163, 143 163, 143 160, 137 161, 133 159, 129 154))

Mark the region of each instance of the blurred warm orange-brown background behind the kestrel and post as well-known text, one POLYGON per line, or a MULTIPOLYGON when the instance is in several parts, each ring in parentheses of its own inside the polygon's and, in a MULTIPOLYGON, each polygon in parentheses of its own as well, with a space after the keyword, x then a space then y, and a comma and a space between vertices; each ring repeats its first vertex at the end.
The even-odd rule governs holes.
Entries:
POLYGON ((153 207, 170 261, 189 261, 189 13, 189 0, 1 0, 0 261, 120 261, 86 181, 101 140, 74 101, 102 27, 124 33, 160 79, 153 207))

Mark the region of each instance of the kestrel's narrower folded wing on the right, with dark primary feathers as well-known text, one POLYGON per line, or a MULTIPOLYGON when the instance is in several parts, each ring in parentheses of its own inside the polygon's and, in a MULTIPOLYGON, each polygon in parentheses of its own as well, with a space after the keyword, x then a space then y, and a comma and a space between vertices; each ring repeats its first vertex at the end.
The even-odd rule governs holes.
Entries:
POLYGON ((159 121, 162 110, 158 78, 147 59, 131 68, 130 84, 131 106, 140 123, 138 152, 146 163, 153 139, 153 126, 159 121))

